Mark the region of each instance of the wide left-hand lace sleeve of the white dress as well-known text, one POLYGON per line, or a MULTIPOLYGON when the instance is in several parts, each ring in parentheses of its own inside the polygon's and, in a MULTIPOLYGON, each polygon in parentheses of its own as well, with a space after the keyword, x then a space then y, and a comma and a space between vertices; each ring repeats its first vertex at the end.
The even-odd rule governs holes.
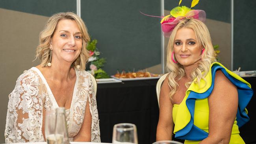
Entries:
POLYGON ((39 77, 25 71, 9 94, 6 116, 6 143, 43 142, 43 102, 39 94, 39 77))

